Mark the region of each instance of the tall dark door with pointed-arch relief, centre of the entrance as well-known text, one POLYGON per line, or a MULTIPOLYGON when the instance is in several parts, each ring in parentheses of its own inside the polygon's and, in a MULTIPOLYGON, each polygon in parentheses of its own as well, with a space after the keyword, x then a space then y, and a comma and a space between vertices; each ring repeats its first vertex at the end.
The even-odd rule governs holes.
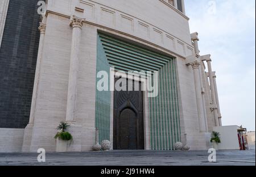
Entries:
POLYGON ((143 95, 137 84, 140 91, 128 91, 128 86, 114 91, 114 149, 144 149, 143 95))

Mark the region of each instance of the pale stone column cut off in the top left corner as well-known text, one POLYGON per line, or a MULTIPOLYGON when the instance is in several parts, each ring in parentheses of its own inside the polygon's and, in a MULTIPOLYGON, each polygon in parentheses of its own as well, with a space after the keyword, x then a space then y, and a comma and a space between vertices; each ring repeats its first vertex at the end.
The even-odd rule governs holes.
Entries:
POLYGON ((7 11, 9 7, 9 0, 0 1, 0 48, 3 37, 3 30, 5 29, 5 20, 7 16, 7 11))

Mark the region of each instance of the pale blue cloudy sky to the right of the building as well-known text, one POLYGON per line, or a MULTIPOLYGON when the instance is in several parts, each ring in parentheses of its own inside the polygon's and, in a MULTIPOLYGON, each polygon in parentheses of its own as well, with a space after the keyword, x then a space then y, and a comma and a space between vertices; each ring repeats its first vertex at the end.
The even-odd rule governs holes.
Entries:
POLYGON ((255 130, 255 0, 185 0, 200 54, 212 55, 223 125, 255 130))

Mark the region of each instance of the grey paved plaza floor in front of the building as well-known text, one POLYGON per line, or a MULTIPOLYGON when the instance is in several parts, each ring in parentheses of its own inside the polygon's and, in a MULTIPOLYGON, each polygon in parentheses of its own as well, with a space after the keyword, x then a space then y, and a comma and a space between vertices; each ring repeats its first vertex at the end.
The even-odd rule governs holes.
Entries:
POLYGON ((100 151, 83 153, 46 153, 46 162, 38 162, 36 153, 0 153, 1 166, 79 165, 79 166, 255 166, 255 149, 217 151, 215 163, 208 151, 100 151))

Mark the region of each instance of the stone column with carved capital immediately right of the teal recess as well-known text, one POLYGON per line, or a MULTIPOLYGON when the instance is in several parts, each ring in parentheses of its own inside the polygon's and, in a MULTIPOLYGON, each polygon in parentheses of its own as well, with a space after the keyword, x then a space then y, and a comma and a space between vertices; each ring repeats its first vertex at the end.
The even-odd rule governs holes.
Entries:
POLYGON ((203 98, 201 93, 200 70, 199 70, 200 61, 199 61, 199 56, 196 55, 196 57, 194 58, 195 59, 191 62, 188 62, 187 65, 191 65, 193 69, 200 132, 207 132, 207 128, 205 127, 204 106, 203 106, 203 98))

